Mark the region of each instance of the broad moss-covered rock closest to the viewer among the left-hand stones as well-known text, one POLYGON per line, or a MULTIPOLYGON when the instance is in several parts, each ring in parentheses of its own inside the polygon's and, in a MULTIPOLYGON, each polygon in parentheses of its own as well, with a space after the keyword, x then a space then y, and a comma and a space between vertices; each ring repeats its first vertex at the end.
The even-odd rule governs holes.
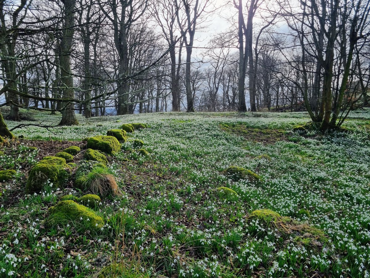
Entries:
POLYGON ((60 201, 49 209, 48 222, 52 225, 77 224, 78 230, 99 231, 104 221, 92 209, 73 200, 60 201))

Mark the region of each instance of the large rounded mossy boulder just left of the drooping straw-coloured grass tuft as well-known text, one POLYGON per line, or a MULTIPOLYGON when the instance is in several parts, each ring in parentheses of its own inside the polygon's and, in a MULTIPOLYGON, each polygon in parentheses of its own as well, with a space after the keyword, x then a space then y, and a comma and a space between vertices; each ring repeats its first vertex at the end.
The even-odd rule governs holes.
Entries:
POLYGON ((70 178, 70 169, 64 158, 45 156, 31 169, 26 183, 26 192, 41 191, 48 179, 54 187, 63 187, 70 178))

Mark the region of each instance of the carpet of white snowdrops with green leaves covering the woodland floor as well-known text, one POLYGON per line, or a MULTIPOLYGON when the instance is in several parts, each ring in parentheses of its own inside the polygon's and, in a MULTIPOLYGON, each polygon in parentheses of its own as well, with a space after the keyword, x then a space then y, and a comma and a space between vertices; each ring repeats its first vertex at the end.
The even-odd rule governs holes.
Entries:
MULTIPOLYGON (((60 115, 35 118, 55 125, 60 115)), ((30 126, 14 134, 83 140, 141 122, 149 127, 132 137, 143 140, 150 155, 122 151, 113 159, 110 168, 124 194, 102 200, 105 225, 97 234, 78 233, 73 225, 46 228, 47 208, 65 189, 22 191, 27 173, 19 165, 37 162, 37 150, 22 152, 32 141, 13 147, 13 160, 0 156, 0 169, 19 172, 0 185, 0 277, 369 277, 370 110, 350 114, 344 125, 350 132, 326 136, 291 132, 309 121, 305 113, 78 115, 78 120, 79 126, 30 126), (262 143, 248 132, 223 130, 225 123, 279 130, 285 137, 262 143), (229 179, 223 170, 230 165, 258 173, 262 182, 229 179), (237 195, 220 194, 222 186, 237 195), (250 218, 258 209, 315 227, 326 240, 303 244, 250 218), (117 254, 121 259, 114 260, 117 254), (122 266, 119 275, 104 272, 115 269, 113 261, 122 266)))

